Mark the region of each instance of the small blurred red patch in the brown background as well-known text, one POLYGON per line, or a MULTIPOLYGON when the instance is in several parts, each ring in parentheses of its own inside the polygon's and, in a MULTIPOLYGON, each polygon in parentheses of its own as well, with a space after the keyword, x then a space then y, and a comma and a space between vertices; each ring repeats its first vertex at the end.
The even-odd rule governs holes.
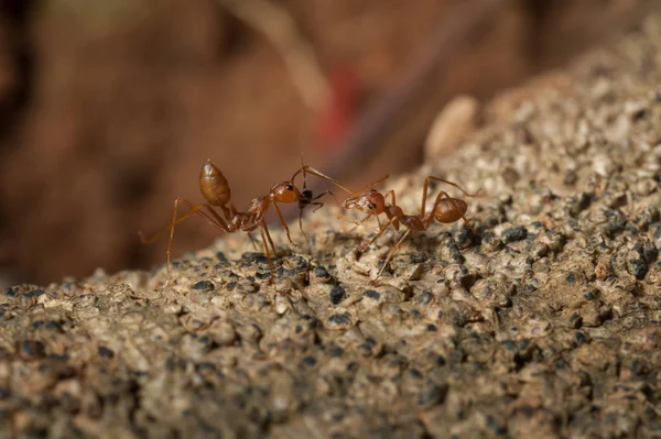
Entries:
POLYGON ((317 114, 314 127, 316 144, 325 152, 336 150, 346 138, 359 96, 358 77, 350 67, 335 67, 328 83, 330 99, 317 114))

